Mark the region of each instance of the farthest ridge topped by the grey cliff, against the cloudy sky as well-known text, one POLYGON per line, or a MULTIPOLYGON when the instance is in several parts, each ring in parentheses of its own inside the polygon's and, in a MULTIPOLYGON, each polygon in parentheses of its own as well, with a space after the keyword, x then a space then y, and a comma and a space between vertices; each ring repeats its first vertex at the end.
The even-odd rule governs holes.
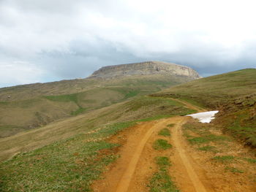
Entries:
POLYGON ((176 64, 160 61, 148 61, 136 64, 121 64, 105 66, 90 77, 76 80, 61 80, 58 82, 34 83, 0 88, 0 101, 17 101, 32 99, 37 96, 63 95, 80 93, 91 88, 113 85, 164 84, 177 85, 182 82, 196 80, 200 76, 195 70, 176 64), (165 80, 165 78, 167 78, 165 80))

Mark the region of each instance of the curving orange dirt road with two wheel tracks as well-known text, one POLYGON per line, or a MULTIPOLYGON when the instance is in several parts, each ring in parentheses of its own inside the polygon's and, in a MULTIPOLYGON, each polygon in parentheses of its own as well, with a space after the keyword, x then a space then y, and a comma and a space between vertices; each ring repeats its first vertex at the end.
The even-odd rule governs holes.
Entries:
MULTIPOLYGON (((187 103, 184 103, 187 104, 187 103)), ((195 106, 188 106, 202 111, 195 106)), ((105 173, 105 179, 94 183, 94 191, 100 192, 127 192, 127 191, 148 191, 146 185, 151 175, 156 170, 154 157, 157 155, 172 156, 173 168, 176 169, 175 177, 181 191, 206 192, 212 191, 203 184, 203 174, 199 166, 191 163, 187 156, 186 146, 182 144, 184 138, 181 133, 181 126, 187 122, 188 117, 174 117, 157 121, 141 123, 133 128, 128 128, 113 138, 113 142, 123 142, 124 145, 119 151, 120 158, 116 164, 110 167, 105 173), (173 145, 172 150, 159 152, 152 148, 155 139, 159 139, 158 131, 166 128, 168 124, 175 123, 172 129, 172 137, 169 142, 173 145), (196 170, 196 171, 195 171, 196 170), (178 172, 177 172, 178 171, 178 172)), ((173 173, 172 173, 173 174, 173 173)))

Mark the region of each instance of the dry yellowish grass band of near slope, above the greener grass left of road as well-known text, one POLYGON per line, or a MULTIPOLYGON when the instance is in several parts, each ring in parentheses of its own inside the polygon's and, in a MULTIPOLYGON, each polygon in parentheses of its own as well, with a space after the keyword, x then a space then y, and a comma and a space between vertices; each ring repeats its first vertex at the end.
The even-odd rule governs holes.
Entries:
MULTIPOLYGON (((152 99, 148 96, 136 97, 121 104, 113 104, 97 111, 86 111, 80 116, 53 122, 50 125, 24 132, 18 137, 9 137, 7 142, 0 140, 0 161, 10 158, 19 151, 33 150, 49 145, 59 139, 66 139, 105 124, 157 120, 172 117, 176 113, 187 112, 185 107, 170 105, 167 100, 169 99, 152 99), (134 110, 135 108, 138 110, 134 110), (8 153, 3 153, 6 150, 8 153)), ((40 116, 47 120, 45 113, 40 112, 40 116)))

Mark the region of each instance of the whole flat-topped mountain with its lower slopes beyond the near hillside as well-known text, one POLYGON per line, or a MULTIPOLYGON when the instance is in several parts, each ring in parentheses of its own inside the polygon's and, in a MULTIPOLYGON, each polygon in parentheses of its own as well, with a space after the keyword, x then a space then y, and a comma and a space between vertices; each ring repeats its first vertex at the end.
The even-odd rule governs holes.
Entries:
POLYGON ((60 118, 96 110, 134 96, 161 91, 199 77, 197 72, 186 66, 162 62, 126 64, 115 68, 124 66, 127 71, 122 69, 122 72, 129 75, 114 77, 116 69, 110 66, 104 74, 109 74, 107 76, 111 78, 99 77, 100 75, 93 77, 94 73, 91 77, 80 80, 1 88, 0 137, 45 126, 60 118), (130 74, 131 71, 134 73, 130 74), (142 71, 146 73, 140 74, 142 71))

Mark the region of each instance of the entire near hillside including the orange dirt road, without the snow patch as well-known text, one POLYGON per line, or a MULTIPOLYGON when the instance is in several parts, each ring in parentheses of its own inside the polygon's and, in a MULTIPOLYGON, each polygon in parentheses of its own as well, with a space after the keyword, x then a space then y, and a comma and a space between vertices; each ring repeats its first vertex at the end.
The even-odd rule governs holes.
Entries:
MULTIPOLYGON (((226 118, 238 123, 255 110, 254 74, 254 69, 245 69, 151 96, 127 96, 116 104, 1 138, 0 191, 254 192, 254 151, 219 131, 230 125, 226 118), (206 89, 209 85, 214 91, 206 89), (239 93, 244 87, 252 91, 239 93), (221 99, 217 91, 225 93, 221 99), (213 123, 184 116, 205 111, 205 106, 220 110, 213 123)), ((250 123, 255 123, 254 117, 250 123)), ((255 126, 237 128, 246 134, 255 131, 255 126)))

